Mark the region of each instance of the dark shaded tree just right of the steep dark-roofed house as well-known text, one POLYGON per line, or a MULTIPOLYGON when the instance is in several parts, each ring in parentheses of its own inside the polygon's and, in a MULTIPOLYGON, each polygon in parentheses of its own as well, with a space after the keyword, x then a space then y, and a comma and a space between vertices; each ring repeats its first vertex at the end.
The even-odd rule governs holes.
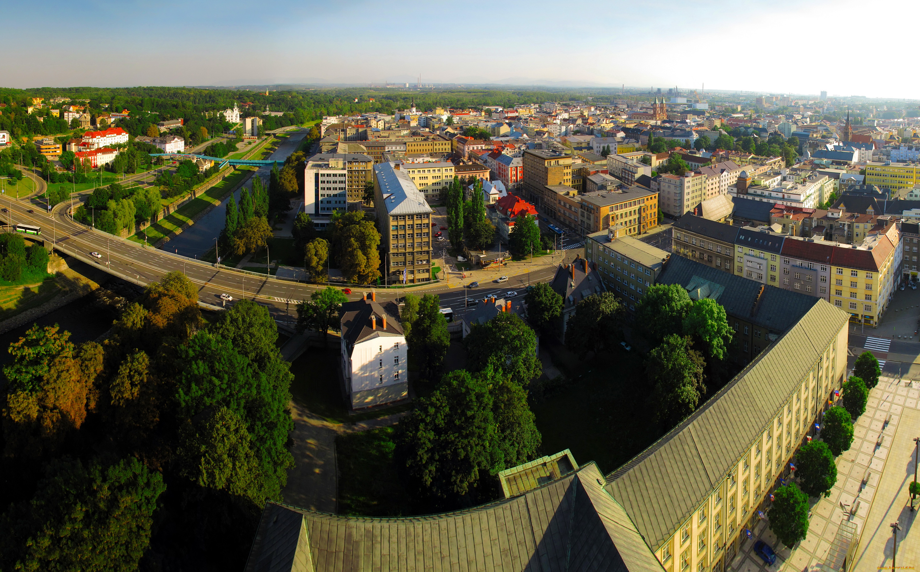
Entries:
POLYGON ((622 339, 626 308, 613 292, 591 294, 575 306, 566 324, 566 347, 584 357, 613 349, 622 339))

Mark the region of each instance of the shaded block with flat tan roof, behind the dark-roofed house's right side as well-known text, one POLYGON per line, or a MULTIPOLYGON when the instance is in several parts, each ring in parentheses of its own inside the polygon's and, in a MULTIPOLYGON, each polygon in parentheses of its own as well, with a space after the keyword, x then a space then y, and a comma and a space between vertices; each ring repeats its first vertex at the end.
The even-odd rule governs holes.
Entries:
POLYGON ((585 257, 596 265, 597 273, 609 292, 630 310, 644 292, 657 283, 671 253, 647 245, 632 236, 616 237, 613 229, 585 236, 585 257))

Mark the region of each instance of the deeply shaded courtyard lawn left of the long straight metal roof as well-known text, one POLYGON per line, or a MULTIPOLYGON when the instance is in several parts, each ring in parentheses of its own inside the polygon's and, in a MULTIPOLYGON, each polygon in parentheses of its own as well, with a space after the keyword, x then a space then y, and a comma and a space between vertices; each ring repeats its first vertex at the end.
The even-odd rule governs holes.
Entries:
POLYGON ((578 463, 594 461, 606 475, 661 437, 644 406, 649 389, 635 350, 585 361, 559 345, 544 349, 569 382, 531 407, 542 454, 569 449, 578 463))

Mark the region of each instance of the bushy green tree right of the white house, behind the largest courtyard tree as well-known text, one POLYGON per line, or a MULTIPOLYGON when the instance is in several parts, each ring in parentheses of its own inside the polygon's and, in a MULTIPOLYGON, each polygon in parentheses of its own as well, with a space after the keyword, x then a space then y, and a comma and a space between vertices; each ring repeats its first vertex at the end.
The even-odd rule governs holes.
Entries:
POLYGON ((473 372, 491 367, 522 386, 543 372, 536 357, 536 334, 513 312, 500 312, 485 324, 475 324, 463 343, 473 372))

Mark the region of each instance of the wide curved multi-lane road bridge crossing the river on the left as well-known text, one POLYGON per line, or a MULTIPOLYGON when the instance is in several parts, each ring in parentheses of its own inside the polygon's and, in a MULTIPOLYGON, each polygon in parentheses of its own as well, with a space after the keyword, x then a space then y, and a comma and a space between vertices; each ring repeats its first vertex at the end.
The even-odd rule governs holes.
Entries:
MULTIPOLYGON (((41 180, 29 172, 26 175, 36 181, 41 180)), ((40 192, 43 192, 43 188, 40 192)), ((72 220, 69 201, 59 203, 51 212, 47 212, 44 204, 34 198, 39 196, 40 192, 29 199, 0 199, 0 207, 8 209, 8 212, 0 214, 0 219, 11 225, 20 223, 40 226, 41 236, 46 244, 50 243, 59 254, 70 255, 86 264, 98 266, 113 276, 141 286, 160 280, 167 272, 178 270, 198 287, 200 303, 208 307, 220 307, 222 293, 233 296, 232 303, 247 298, 267 307, 280 325, 289 327, 293 327, 297 320, 296 305, 302 300, 308 300, 312 292, 326 287, 325 284, 308 284, 245 270, 228 269, 109 235, 72 220), (92 257, 91 252, 98 252, 102 257, 92 257)), ((80 200, 86 200, 86 196, 88 193, 81 196, 80 200)), ((496 277, 499 273, 502 273, 501 270, 496 269, 496 277)), ((526 286, 529 280, 550 279, 555 273, 555 267, 536 267, 529 275, 523 269, 517 273, 505 270, 504 273, 512 280, 502 284, 483 282, 483 286, 474 291, 460 288, 457 281, 452 281, 450 286, 433 283, 410 291, 374 286, 353 287, 349 298, 359 300, 362 292, 376 290, 378 300, 391 301, 404 296, 405 292, 422 290, 426 293, 441 294, 442 305, 451 306, 455 315, 462 315, 467 295, 480 299, 491 294, 502 296, 505 291, 526 286)))

